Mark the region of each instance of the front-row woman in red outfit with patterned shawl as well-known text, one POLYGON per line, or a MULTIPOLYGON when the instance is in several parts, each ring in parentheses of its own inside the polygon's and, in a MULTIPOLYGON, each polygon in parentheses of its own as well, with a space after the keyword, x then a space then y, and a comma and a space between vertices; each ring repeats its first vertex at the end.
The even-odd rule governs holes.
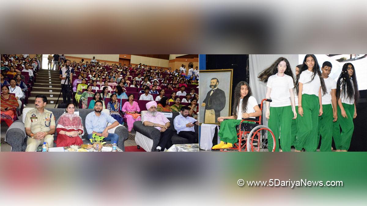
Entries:
POLYGON ((57 147, 83 144, 83 140, 81 140, 81 136, 84 134, 83 122, 79 115, 74 114, 74 111, 74 104, 69 103, 66 107, 66 113, 62 114, 57 120, 57 147))

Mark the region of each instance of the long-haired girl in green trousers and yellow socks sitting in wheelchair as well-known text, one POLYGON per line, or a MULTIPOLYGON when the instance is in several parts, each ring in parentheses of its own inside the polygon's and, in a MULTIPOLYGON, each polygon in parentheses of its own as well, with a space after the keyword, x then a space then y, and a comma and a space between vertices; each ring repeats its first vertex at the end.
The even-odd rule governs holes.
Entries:
POLYGON ((237 142, 236 126, 240 125, 242 118, 255 118, 261 115, 257 101, 251 95, 250 85, 246 81, 240 81, 236 85, 232 106, 233 115, 229 117, 218 117, 218 122, 221 122, 218 132, 218 136, 221 137, 221 142, 213 146, 213 150, 233 147, 233 144, 237 142), (227 120, 224 121, 225 119, 227 120))

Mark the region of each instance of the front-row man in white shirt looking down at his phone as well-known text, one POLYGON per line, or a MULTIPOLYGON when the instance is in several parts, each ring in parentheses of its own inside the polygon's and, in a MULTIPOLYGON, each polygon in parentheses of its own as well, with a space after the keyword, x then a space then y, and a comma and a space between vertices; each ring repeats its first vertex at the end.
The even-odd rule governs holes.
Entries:
POLYGON ((177 117, 173 120, 173 125, 177 130, 177 135, 189 140, 189 144, 199 142, 199 134, 195 132, 195 125, 199 125, 199 122, 193 118, 188 117, 190 108, 183 106, 177 117))

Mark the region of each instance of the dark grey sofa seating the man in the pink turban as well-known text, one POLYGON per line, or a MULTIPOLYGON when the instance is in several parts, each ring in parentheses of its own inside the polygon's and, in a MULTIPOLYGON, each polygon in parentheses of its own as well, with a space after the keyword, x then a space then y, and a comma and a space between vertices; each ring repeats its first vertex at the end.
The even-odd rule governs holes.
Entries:
MULTIPOLYGON (((163 113, 172 113, 172 118, 168 118, 170 120, 170 128, 173 130, 173 136, 172 136, 172 144, 188 144, 188 139, 179 137, 177 135, 177 130, 175 129, 173 125, 173 120, 177 115, 181 115, 179 112, 163 112, 163 113)), ((199 134, 199 126, 194 126, 195 133, 199 134)), ((148 137, 149 139, 153 140, 153 146, 151 151, 154 151, 154 149, 158 146, 159 140, 160 140, 160 132, 156 128, 152 126, 144 126, 141 121, 134 122, 134 130, 141 133, 142 135, 148 137)), ((199 137, 198 137, 199 139, 199 137)))

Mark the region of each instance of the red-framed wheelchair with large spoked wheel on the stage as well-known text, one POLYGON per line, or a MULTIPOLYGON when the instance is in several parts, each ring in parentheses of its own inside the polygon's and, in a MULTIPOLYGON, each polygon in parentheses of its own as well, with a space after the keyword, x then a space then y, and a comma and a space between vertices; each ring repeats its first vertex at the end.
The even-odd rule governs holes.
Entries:
MULTIPOLYGON (((262 106, 264 101, 272 102, 271 99, 261 100, 260 110, 262 112, 262 106)), ((267 126, 262 125, 262 115, 256 118, 242 119, 241 124, 237 128, 238 142, 233 144, 233 147, 220 149, 221 152, 228 151, 251 151, 262 152, 270 151, 274 152, 276 147, 275 136, 267 126), (247 122, 254 122, 254 124, 247 122), (269 138, 273 141, 269 143, 269 138)))

